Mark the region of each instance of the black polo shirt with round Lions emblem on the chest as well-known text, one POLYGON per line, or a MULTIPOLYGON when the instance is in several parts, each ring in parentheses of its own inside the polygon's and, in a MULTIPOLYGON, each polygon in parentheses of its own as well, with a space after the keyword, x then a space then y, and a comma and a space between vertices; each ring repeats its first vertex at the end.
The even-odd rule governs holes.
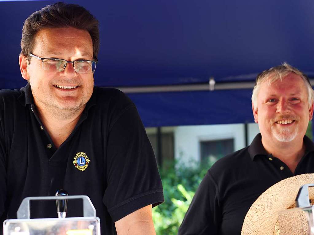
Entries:
MULTIPOLYGON (((59 189, 87 195, 102 235, 115 234, 122 217, 164 200, 136 107, 121 91, 99 87, 59 148, 37 115, 29 85, 0 91, 0 189, 1 222, 16 218, 28 196, 54 196, 59 189)), ((67 217, 83 216, 80 203, 68 201, 67 217)), ((33 202, 31 217, 57 217, 56 202, 33 202)))

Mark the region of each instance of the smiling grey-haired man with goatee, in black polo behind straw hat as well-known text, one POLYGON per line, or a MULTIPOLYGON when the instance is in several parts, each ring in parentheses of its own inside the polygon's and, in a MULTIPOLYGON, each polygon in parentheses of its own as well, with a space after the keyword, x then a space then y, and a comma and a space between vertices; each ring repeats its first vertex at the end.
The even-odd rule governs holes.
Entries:
POLYGON ((313 92, 307 76, 286 63, 257 76, 252 110, 260 133, 249 147, 208 170, 179 235, 240 234, 246 212, 265 190, 285 178, 314 173, 314 144, 305 136, 313 92))

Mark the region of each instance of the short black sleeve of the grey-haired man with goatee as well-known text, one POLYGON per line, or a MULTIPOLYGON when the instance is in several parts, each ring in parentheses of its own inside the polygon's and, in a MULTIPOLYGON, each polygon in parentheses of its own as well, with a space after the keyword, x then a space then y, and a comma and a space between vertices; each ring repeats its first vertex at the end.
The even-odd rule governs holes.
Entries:
POLYGON ((196 191, 178 235, 218 234, 221 210, 217 184, 208 171, 196 191))

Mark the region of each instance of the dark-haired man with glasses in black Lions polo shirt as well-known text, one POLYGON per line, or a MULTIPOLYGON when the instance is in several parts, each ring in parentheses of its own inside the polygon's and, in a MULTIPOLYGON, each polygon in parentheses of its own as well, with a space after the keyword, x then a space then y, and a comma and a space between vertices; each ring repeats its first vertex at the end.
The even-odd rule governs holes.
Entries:
MULTIPOLYGON (((90 197, 103 235, 155 234, 162 185, 137 109, 94 86, 98 21, 78 5, 49 5, 26 19, 21 49, 28 84, 0 91, 2 221, 25 197, 64 189, 90 197)), ((33 204, 31 215, 56 217, 55 203, 33 204)), ((81 206, 69 203, 67 215, 82 216, 81 206)))

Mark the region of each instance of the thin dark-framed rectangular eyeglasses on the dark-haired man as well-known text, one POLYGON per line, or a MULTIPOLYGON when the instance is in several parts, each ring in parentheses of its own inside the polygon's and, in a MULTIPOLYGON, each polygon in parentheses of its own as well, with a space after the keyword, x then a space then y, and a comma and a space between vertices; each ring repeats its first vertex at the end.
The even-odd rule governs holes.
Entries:
POLYGON ((33 55, 32 53, 30 53, 30 56, 38 60, 42 60, 43 70, 51 72, 61 72, 65 69, 67 63, 72 63, 74 70, 77 73, 93 73, 96 69, 96 64, 98 63, 98 61, 94 60, 68 61, 57 58, 41 58, 39 56, 33 55))

